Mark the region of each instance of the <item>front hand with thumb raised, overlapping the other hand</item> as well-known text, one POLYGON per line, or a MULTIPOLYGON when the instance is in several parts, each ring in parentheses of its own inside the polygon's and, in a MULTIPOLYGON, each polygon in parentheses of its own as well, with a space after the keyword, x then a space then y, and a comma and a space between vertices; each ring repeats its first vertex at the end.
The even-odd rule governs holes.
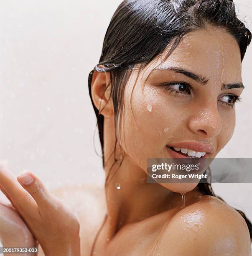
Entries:
POLYGON ((0 162, 0 187, 46 256, 80 255, 79 221, 38 177, 25 171, 16 179, 0 162))

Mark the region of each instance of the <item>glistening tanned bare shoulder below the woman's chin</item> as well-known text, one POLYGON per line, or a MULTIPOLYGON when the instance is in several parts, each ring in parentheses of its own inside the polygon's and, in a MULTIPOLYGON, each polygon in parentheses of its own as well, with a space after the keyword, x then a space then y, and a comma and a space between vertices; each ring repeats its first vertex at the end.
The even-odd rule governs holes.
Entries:
POLYGON ((239 212, 216 197, 202 196, 173 216, 156 250, 171 256, 249 256, 251 241, 239 212))

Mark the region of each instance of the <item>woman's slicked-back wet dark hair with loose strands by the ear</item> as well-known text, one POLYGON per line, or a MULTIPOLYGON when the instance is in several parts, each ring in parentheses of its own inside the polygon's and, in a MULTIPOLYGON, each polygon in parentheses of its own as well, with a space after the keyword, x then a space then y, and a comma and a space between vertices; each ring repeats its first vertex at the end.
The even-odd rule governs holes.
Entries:
MULTIPOLYGON (((168 45, 171 46, 168 55, 171 54, 186 33, 207 25, 224 29, 235 38, 242 61, 251 41, 251 32, 237 18, 232 0, 124 0, 119 5, 107 28, 99 64, 89 73, 88 79, 89 95, 97 117, 102 146, 103 167, 104 117, 92 100, 94 71, 110 72, 109 97, 113 100, 117 131, 117 120, 123 112, 125 85, 132 70, 136 67, 138 70, 145 68, 150 61, 161 56, 168 45)), ((118 134, 115 136, 117 143, 120 137, 118 134)), ((119 159, 116 159, 115 154, 114 159, 116 164, 119 159)), ((109 175, 105 186, 108 179, 109 175)), ((197 189, 204 195, 216 196, 211 183, 199 183, 197 189)), ((243 212, 237 211, 245 219, 252 239, 251 223, 243 212)))

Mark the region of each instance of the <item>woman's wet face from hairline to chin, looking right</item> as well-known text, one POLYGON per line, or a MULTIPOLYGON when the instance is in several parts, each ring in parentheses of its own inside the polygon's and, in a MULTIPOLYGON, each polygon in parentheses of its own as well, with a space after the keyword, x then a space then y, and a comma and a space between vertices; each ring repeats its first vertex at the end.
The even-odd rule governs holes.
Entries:
MULTIPOLYGON (((138 72, 132 72, 125 87, 121 146, 145 172, 148 158, 173 158, 167 145, 209 143, 213 152, 207 157, 214 158, 232 137, 234 100, 243 90, 224 88, 241 84, 242 77, 239 46, 223 29, 208 26, 190 32, 163 62, 164 56, 138 78, 138 72)), ((162 185, 186 192, 197 184, 162 185)))

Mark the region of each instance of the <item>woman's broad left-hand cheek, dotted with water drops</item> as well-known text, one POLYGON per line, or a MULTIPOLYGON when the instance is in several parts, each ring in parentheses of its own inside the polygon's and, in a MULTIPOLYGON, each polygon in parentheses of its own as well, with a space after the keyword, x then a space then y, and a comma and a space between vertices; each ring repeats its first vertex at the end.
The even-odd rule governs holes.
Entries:
MULTIPOLYGON (((134 90, 125 95, 125 113, 120 125, 121 146, 142 169, 147 170, 147 158, 167 157, 165 145, 173 139, 183 118, 173 102, 156 90, 145 94, 134 90)), ((178 107, 177 107, 178 108, 178 107)))

